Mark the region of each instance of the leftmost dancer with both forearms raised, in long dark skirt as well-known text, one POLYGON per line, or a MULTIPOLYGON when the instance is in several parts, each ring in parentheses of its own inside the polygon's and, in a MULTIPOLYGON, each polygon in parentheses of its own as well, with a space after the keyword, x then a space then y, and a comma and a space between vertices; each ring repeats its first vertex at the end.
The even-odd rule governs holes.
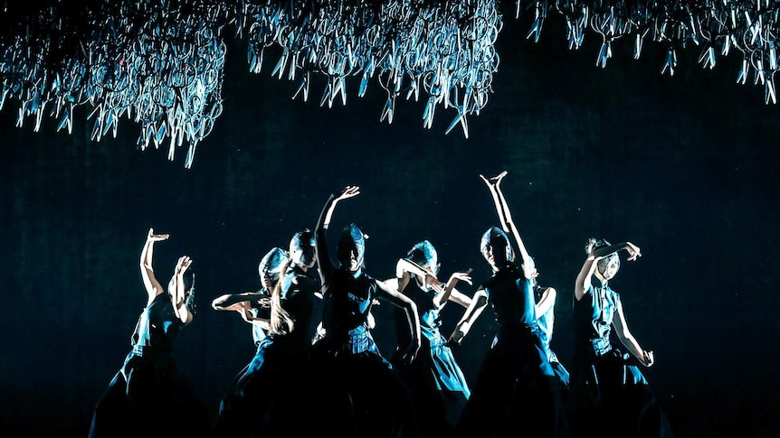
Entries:
POLYGON ((181 256, 166 289, 152 268, 154 245, 167 240, 149 228, 141 250, 141 278, 147 305, 131 338, 133 349, 100 398, 90 425, 90 438, 135 436, 206 436, 208 411, 178 372, 173 359, 179 330, 193 320, 195 275, 192 259, 181 256))

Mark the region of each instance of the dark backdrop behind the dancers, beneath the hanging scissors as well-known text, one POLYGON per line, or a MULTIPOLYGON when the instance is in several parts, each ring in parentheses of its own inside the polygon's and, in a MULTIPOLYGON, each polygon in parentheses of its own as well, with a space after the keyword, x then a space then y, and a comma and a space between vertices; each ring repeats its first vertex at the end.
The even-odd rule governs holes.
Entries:
MULTIPOLYGON (((367 272, 394 273, 395 260, 423 238, 442 257, 442 279, 473 267, 481 233, 498 225, 479 174, 508 170, 503 188, 541 273, 556 287, 553 348, 569 364, 571 299, 586 238, 629 240, 642 258, 623 262, 611 285, 623 296, 633 334, 653 349, 643 368, 680 437, 780 435, 775 310, 780 253, 776 175, 780 108, 761 86, 738 85, 738 53, 714 70, 699 48, 680 52, 661 75, 664 48, 615 42, 606 69, 600 41, 566 47, 560 17, 528 42, 528 16, 505 16, 501 63, 471 135, 449 135, 454 112, 438 108, 422 127, 423 102, 400 100, 393 124, 379 122, 375 83, 347 106, 292 100, 296 84, 248 72, 245 41, 229 40, 224 114, 184 167, 185 149, 141 152, 138 126, 89 141, 85 109, 72 135, 52 118, 15 127, 18 101, 0 112, 0 233, 4 275, 0 345, 0 432, 85 435, 91 411, 129 350, 146 294, 138 256, 147 229, 166 282, 176 257, 198 273, 198 312, 176 340, 176 359, 214 415, 220 396, 254 352, 238 315, 214 312, 218 294, 258 287, 257 262, 313 228, 325 200, 347 184, 361 194, 338 204, 329 237, 356 222, 370 236, 367 272)), ((623 256, 624 260, 624 256, 623 256)), ((461 284, 468 294, 474 288, 461 284)), ((449 333, 461 309, 445 308, 449 333)), ((387 305, 376 339, 395 347, 387 305)), ((486 312, 455 350, 475 377, 490 344, 486 312)), ((305 414, 303 414, 305 416, 305 414)))

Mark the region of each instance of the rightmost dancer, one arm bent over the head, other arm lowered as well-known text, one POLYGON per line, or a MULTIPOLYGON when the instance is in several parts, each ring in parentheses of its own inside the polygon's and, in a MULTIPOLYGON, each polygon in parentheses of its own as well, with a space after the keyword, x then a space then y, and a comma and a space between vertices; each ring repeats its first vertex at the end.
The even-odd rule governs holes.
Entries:
POLYGON ((623 347, 639 363, 651 367, 655 361, 652 350, 642 349, 628 330, 621 297, 609 286, 620 269, 621 250, 628 253, 628 261, 642 256, 631 242, 611 245, 604 239, 588 239, 587 258, 576 278, 575 432, 584 437, 670 437, 671 428, 647 380, 631 364, 629 355, 610 341, 614 328, 623 347), (599 284, 592 284, 594 275, 599 284))

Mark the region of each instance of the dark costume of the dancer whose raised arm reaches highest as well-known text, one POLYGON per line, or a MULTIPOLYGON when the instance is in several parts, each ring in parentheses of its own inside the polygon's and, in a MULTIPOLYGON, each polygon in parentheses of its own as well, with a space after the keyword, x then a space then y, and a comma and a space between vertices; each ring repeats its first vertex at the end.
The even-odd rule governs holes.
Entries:
POLYGON ((566 417, 530 281, 509 265, 482 287, 499 327, 471 387, 459 436, 566 436, 566 417))

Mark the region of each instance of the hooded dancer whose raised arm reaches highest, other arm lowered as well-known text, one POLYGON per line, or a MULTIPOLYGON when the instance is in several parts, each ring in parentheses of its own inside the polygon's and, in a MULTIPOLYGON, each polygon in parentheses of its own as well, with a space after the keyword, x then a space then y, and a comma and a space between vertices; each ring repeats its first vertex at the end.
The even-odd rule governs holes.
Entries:
POLYGON ((537 270, 506 214, 509 207, 497 188, 504 175, 490 180, 480 175, 493 195, 504 229, 492 227, 482 236, 482 256, 493 275, 474 294, 451 336, 452 342, 460 342, 491 304, 499 330, 471 387, 458 433, 461 437, 566 436, 566 415, 537 321, 532 289, 537 270), (520 266, 514 263, 515 249, 508 233, 520 252, 520 266))

